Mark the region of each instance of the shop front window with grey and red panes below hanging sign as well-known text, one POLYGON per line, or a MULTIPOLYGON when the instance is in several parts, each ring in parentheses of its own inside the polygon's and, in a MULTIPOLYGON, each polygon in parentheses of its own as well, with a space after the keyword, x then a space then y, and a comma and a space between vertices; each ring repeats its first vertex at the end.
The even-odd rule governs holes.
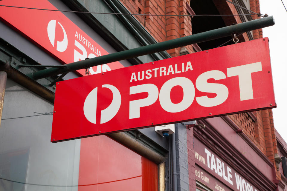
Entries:
POLYGON ((7 79, 0 190, 158 190, 158 166, 106 135, 51 143, 53 105, 7 79))

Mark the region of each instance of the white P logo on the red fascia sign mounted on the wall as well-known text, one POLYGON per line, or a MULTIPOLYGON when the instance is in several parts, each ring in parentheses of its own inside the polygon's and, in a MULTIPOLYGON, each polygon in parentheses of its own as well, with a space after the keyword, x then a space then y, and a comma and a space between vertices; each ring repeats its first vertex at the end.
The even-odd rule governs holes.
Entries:
MULTIPOLYGON (((62 26, 62 24, 60 22, 58 22, 58 24, 62 28, 64 38, 62 41, 57 41, 56 49, 59 52, 64 52, 68 47, 68 37, 67 37, 67 33, 66 33, 64 27, 62 26)), ((51 20, 48 23, 47 32, 48 32, 48 37, 49 37, 51 44, 53 45, 53 47, 55 47, 56 20, 51 20)))

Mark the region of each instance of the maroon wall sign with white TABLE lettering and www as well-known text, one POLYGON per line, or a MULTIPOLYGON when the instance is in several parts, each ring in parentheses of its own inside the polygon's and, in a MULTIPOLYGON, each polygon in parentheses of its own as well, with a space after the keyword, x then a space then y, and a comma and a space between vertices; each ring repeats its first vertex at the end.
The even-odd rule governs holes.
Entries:
POLYGON ((196 162, 195 175, 198 181, 207 185, 212 190, 259 190, 251 184, 249 178, 246 179, 235 171, 230 164, 213 153, 198 139, 194 138, 193 145, 196 162))

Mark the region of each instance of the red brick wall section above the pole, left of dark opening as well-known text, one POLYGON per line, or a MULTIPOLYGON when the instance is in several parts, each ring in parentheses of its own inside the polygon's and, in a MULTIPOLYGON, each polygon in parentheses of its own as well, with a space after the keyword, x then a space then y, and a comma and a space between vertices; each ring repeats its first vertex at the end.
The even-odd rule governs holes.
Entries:
MULTIPOLYGON (((186 4, 189 0, 120 0, 134 14, 187 15, 186 4)), ((187 16, 135 16, 145 29, 162 42, 192 34, 191 18, 187 16)), ((192 45, 184 47, 189 53, 193 52, 192 45)), ((183 47, 167 50, 175 57, 180 55, 183 47)))

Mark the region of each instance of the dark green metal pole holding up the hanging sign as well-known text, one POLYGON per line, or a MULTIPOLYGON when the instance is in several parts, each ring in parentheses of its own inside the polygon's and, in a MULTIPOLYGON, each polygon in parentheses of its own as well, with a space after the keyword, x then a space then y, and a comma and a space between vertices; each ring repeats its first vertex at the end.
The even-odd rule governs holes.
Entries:
POLYGON ((137 56, 143 56, 151 53, 160 52, 163 50, 169 50, 172 48, 183 47, 189 44, 200 43, 204 41, 210 41, 217 38, 222 38, 225 36, 230 36, 232 33, 243 33, 259 28, 269 27, 274 25, 273 16, 268 16, 261 19, 256 19, 252 21, 247 21, 244 23, 239 23, 231 25, 228 27, 222 27, 219 29, 209 30, 203 33, 197 33, 190 36, 185 36, 181 38, 172 39, 169 41, 159 42, 156 44, 151 44, 143 47, 133 48, 130 50, 124 50, 117 53, 112 53, 104 56, 99 56, 95 58, 90 58, 87 60, 77 61, 70 64, 65 64, 65 68, 48 68, 45 70, 40 70, 31 73, 30 77, 37 80, 49 76, 54 76, 62 74, 65 72, 80 70, 86 67, 93 67, 101 64, 107 64, 110 62, 115 62, 119 60, 125 60, 129 58, 134 58, 137 56))

